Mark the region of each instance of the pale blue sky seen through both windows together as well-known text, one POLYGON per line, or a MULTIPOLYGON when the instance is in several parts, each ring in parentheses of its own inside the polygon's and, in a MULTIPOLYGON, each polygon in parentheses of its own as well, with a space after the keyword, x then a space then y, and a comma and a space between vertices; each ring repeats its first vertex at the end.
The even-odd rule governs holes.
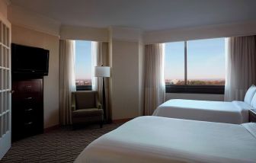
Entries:
MULTIPOLYGON (((75 78, 91 78, 91 41, 75 41, 75 78)), ((187 79, 225 78, 225 38, 187 41, 187 79)), ((184 42, 165 43, 165 79, 184 79, 184 42)))

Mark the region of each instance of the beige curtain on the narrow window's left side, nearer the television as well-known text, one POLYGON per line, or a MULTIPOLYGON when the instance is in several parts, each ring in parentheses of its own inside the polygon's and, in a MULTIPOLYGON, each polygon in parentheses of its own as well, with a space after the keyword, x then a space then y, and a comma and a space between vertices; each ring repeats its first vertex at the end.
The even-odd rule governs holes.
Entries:
POLYGON ((71 124, 71 93, 75 91, 75 41, 59 40, 59 121, 71 124))

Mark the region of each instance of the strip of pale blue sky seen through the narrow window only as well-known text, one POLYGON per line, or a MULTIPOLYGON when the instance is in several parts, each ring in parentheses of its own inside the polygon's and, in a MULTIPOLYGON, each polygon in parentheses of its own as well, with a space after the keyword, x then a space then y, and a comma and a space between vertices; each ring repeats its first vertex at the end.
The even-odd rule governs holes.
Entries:
POLYGON ((75 78, 91 79, 91 41, 75 40, 75 78))

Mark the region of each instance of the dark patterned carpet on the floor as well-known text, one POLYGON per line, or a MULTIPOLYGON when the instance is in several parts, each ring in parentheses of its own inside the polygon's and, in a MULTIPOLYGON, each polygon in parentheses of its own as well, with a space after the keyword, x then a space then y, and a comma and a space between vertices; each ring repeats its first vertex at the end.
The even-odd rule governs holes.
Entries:
POLYGON ((5 162, 73 162, 85 147, 94 139, 120 126, 121 123, 87 126, 72 130, 62 127, 27 139, 14 142, 11 149, 0 161, 5 162))

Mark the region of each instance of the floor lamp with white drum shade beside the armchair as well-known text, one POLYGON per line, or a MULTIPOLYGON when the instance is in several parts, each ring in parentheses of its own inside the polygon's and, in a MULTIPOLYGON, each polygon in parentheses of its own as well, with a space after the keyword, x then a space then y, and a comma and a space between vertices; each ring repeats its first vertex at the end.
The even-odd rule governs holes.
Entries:
POLYGON ((102 78, 102 105, 104 110, 104 120, 107 120, 106 114, 106 98, 105 98, 105 85, 104 78, 110 77, 110 67, 108 66, 95 66, 94 76, 102 78))

